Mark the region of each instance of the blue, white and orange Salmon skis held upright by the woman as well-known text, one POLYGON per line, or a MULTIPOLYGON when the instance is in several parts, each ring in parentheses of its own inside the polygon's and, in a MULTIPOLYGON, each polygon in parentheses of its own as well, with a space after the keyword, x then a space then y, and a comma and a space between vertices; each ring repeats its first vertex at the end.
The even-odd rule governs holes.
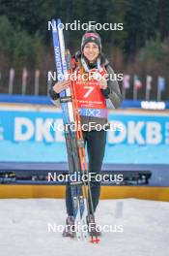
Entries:
MULTIPOLYGON (((52 19, 51 23, 57 78, 59 81, 62 81, 68 78, 68 74, 72 73, 70 51, 65 49, 61 20, 57 19, 55 21, 52 19)), ((78 125, 80 123, 80 116, 74 92, 74 83, 70 81, 70 87, 60 93, 63 122, 65 127, 67 127, 65 129, 65 139, 69 160, 69 174, 71 176, 80 172, 81 175, 88 175, 84 140, 82 130, 78 125), (78 128, 72 130, 72 125, 78 128)), ((75 180, 70 182, 70 190, 77 240, 89 240, 90 237, 91 242, 98 243, 98 236, 91 233, 88 229, 91 221, 96 226, 90 181, 82 182, 81 180, 75 180), (92 214, 90 214, 90 209, 92 214)))

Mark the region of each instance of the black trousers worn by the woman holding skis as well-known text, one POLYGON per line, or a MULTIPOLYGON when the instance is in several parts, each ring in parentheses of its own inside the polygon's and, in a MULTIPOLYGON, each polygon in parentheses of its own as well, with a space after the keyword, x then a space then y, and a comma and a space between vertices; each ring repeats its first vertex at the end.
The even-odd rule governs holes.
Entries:
MULTIPOLYGON (((83 132, 83 138, 85 141, 85 145, 87 145, 88 152, 88 160, 89 160, 89 172, 94 173, 95 175, 93 179, 91 179, 91 193, 93 200, 94 211, 99 204, 99 194, 100 194, 100 182, 96 181, 95 176, 100 174, 102 161, 104 157, 105 144, 106 144, 106 131, 90 131, 83 132)), ((90 204, 89 204, 90 206, 90 204)), ((68 215, 73 215, 72 208, 72 200, 71 200, 71 191, 70 191, 70 183, 66 186, 66 208, 68 215)), ((90 208, 90 213, 92 210, 90 208)))

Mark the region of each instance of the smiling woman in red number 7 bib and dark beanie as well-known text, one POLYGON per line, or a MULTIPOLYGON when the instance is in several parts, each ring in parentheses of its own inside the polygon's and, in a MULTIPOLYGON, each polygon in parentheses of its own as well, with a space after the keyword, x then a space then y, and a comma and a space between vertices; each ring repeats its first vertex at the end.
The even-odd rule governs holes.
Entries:
MULTIPOLYGON (((74 74, 80 75, 78 80, 75 81, 75 93, 80 111, 84 142, 87 145, 89 172, 93 173, 90 182, 94 211, 96 211, 99 204, 100 182, 95 179, 95 176, 100 174, 101 171, 106 144, 106 130, 108 128, 106 100, 109 99, 113 108, 116 109, 122 102, 122 95, 118 82, 114 78, 114 71, 101 52, 101 40, 99 34, 95 31, 88 31, 82 37, 81 50, 72 57, 72 66, 74 74), (91 81, 89 79, 91 74, 101 75, 102 79, 98 80, 96 78, 95 82, 91 81), (108 80, 103 79, 103 74, 107 74, 108 80), (81 75, 85 76, 82 77, 81 75), (81 78, 85 78, 85 80, 81 78), (99 129, 97 129, 98 127, 99 129)), ((69 86, 69 80, 56 82, 49 91, 51 98, 54 101, 58 100, 59 93, 69 86)), ((66 207, 68 213, 67 225, 73 225, 70 184, 67 184, 66 188, 66 207)), ((63 235, 73 236, 70 231, 64 232, 63 235)))

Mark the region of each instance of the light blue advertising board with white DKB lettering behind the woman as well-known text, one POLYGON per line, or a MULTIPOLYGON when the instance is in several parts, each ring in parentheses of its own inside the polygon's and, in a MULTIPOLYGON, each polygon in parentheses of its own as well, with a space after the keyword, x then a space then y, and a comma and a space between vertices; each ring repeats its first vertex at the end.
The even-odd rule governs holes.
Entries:
MULTIPOLYGON (((109 111, 104 163, 169 164, 167 112, 109 111)), ((1 108, 0 161, 67 161, 62 112, 1 108)))

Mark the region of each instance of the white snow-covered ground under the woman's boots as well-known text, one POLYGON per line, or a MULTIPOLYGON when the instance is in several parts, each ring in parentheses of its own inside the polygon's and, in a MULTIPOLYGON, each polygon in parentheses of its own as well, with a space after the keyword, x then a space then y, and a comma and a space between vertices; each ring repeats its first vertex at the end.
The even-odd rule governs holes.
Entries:
POLYGON ((63 200, 0 200, 0 255, 169 255, 169 203, 100 201, 97 221, 101 227, 107 224, 114 228, 111 233, 103 233, 99 244, 70 240, 57 231, 48 232, 48 224, 56 227, 65 222, 63 200))

